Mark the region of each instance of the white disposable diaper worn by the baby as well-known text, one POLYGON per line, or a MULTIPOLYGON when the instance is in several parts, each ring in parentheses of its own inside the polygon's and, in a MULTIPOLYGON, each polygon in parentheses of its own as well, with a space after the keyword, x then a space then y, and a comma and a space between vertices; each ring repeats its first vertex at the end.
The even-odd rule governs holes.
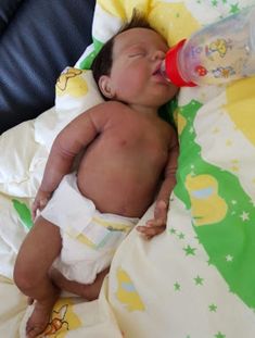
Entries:
POLYGON ((80 193, 76 179, 75 173, 64 176, 41 216, 61 229, 62 251, 54 266, 71 280, 90 284, 110 266, 117 247, 139 220, 100 213, 80 193))

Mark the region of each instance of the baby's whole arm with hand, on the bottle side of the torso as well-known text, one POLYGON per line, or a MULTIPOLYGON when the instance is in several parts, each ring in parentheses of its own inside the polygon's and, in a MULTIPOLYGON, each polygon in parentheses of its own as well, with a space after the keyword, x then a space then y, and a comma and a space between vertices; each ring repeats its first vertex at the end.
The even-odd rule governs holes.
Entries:
POLYGON ((148 221, 145 226, 137 227, 138 231, 140 231, 146 239, 151 239, 155 235, 160 235, 166 228, 169 197, 176 185, 177 159, 179 154, 178 139, 176 133, 173 133, 164 180, 155 201, 154 218, 148 221))

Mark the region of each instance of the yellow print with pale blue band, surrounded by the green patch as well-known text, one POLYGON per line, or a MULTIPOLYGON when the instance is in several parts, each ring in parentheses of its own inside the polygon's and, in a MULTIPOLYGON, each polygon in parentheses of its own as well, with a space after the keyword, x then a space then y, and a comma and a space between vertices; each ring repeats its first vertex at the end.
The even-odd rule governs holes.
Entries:
POLYGON ((225 218, 228 205, 218 195, 218 181, 211 175, 188 175, 186 187, 190 195, 195 226, 218 223, 225 218))

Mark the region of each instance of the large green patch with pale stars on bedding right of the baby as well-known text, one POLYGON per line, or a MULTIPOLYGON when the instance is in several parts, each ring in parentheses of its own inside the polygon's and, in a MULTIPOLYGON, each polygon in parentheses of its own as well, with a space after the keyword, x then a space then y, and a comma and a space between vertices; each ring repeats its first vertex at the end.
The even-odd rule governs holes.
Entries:
MULTIPOLYGON (((202 103, 194 100, 178 108, 178 113, 186 120, 186 126, 179 135, 180 155, 175 196, 184 203, 187 210, 192 210, 192 201, 186 187, 191 163, 196 176, 206 173, 217 180, 218 195, 228 205, 226 216, 218 223, 193 226, 193 229, 200 245, 204 247, 208 255, 208 264, 214 265, 222 275, 231 292, 238 295, 250 308, 255 308, 255 270, 252 268, 255 256, 253 240, 255 238, 255 208, 251 203, 251 197, 234 174, 206 162, 201 157, 201 146, 196 143, 196 133, 192 135, 189 133, 201 108, 202 103), (226 189, 226 185, 228 189, 226 189), (237 201, 234 204, 231 202, 233 199, 237 201), (244 211, 248 214, 248 220, 245 222, 239 216, 244 211), (234 264, 230 264, 226 260, 229 253, 234 258, 234 264), (242 274, 242 279, 240 279, 240 274, 242 274)), ((182 250, 187 256, 196 254, 196 249, 190 245, 182 250)))

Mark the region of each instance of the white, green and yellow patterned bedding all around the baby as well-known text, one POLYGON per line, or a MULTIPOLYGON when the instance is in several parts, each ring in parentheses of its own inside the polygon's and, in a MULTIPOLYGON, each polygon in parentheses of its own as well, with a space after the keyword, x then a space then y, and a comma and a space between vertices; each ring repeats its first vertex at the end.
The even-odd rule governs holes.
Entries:
MULTIPOLYGON (((55 107, 0 137, 0 336, 25 337, 31 311, 12 283, 33 226, 30 205, 51 143, 72 118, 102 101, 89 68, 133 7, 173 45, 254 1, 99 0, 90 46, 56 83, 55 107), (22 140, 22 141, 21 141, 22 140)), ((180 157, 167 230, 132 230, 117 250, 99 300, 63 297, 49 337, 255 337, 255 78, 182 88, 175 111, 180 157)), ((144 224, 153 205, 140 221, 144 224)))

